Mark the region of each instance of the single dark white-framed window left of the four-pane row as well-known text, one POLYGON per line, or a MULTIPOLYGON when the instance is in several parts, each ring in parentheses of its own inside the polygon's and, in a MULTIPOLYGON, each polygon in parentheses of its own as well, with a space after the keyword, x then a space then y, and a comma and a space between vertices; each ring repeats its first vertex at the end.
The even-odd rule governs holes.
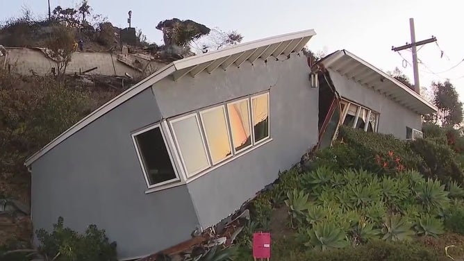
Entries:
POLYGON ((136 133, 133 135, 133 141, 149 187, 179 180, 160 126, 136 133))

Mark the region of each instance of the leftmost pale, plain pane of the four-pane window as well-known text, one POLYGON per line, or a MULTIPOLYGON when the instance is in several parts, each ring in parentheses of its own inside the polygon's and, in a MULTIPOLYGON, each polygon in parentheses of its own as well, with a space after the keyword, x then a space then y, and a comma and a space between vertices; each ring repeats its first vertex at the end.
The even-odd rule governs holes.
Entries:
POLYGON ((210 166, 198 123, 196 114, 171 122, 176 144, 188 176, 193 176, 210 166))

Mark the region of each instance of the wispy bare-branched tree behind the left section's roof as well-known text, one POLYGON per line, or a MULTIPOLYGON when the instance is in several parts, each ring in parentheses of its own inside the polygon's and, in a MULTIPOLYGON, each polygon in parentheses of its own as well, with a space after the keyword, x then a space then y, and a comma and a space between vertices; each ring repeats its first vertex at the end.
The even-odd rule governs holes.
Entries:
POLYGON ((192 41, 192 47, 197 53, 207 53, 217 51, 242 42, 243 36, 237 31, 222 31, 219 28, 211 29, 208 35, 200 37, 197 41, 192 41))

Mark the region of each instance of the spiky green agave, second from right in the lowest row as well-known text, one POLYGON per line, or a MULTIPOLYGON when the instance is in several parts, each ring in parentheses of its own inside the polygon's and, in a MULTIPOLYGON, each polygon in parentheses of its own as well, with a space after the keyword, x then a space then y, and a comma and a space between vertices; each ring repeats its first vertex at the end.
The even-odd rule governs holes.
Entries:
POLYGON ((401 217, 399 214, 390 215, 383 223, 383 239, 391 241, 411 239, 411 236, 414 235, 411 227, 412 224, 406 217, 401 217))

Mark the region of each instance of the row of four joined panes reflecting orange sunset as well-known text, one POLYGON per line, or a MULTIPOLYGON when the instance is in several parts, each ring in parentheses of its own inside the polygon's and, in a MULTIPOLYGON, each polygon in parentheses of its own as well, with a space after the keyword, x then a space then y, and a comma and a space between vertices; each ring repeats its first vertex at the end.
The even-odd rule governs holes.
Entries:
POLYGON ((187 177, 270 140, 269 93, 170 120, 187 177))

